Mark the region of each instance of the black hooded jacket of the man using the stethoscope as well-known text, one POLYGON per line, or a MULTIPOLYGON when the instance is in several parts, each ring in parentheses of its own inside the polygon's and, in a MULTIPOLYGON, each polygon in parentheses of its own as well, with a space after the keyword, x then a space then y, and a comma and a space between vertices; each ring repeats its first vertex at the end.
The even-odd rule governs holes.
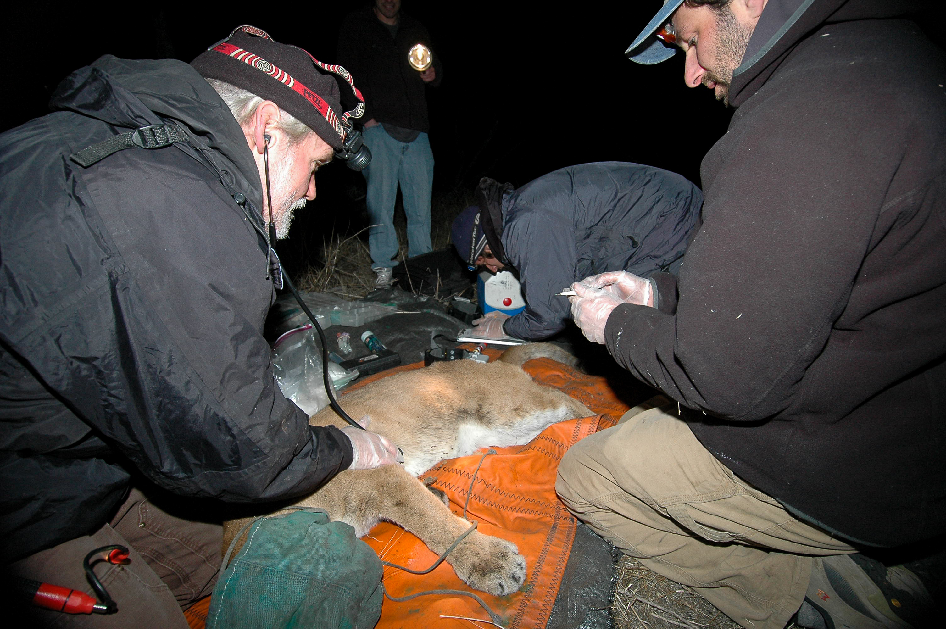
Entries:
POLYGON ((309 427, 275 384, 259 176, 217 93, 180 61, 103 57, 52 104, 0 135, 5 558, 94 532, 131 470, 253 501, 345 469, 347 438, 309 427), (69 159, 163 120, 189 144, 69 159))

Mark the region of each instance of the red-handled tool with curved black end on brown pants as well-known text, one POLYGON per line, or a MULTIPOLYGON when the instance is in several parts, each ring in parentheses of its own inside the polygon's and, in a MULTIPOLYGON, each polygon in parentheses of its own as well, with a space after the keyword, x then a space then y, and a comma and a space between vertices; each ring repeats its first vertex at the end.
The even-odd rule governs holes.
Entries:
POLYGON ((92 585, 92 588, 96 591, 97 600, 85 592, 70 587, 41 583, 31 579, 18 578, 15 585, 29 599, 29 602, 37 607, 52 609, 65 614, 114 614, 118 611, 118 605, 109 596, 101 582, 98 581, 98 577, 92 569, 93 565, 99 561, 107 561, 114 565, 127 564, 129 562, 129 550, 116 544, 114 546, 103 546, 85 555, 82 568, 85 569, 85 578, 89 585, 92 585), (97 554, 103 552, 106 553, 104 557, 98 557, 97 561, 93 561, 97 554))

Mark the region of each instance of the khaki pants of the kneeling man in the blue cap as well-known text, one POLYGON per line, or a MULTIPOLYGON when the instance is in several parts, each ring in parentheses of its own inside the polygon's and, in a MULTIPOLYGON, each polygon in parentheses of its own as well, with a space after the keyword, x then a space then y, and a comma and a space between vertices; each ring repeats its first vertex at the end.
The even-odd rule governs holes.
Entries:
POLYGON ((558 495, 596 533, 744 627, 782 629, 804 599, 812 555, 855 550, 736 478, 675 404, 637 411, 571 447, 558 495))

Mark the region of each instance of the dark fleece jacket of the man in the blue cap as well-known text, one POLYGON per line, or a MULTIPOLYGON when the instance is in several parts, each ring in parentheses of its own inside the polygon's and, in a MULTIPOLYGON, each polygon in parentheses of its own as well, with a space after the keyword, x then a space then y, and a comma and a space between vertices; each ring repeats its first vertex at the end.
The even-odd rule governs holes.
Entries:
POLYGON ((920 540, 946 532, 944 56, 874 19, 894 3, 815 0, 781 34, 779 5, 703 161, 678 284, 616 308, 607 345, 790 511, 920 540))

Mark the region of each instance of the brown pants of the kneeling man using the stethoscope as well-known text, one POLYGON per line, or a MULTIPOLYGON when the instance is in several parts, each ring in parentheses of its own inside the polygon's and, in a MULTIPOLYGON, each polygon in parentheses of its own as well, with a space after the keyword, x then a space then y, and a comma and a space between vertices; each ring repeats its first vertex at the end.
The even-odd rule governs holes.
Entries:
POLYGON ((116 613, 74 615, 29 607, 29 626, 186 629, 183 610, 209 595, 217 582, 222 543, 219 525, 170 515, 132 489, 113 520, 96 533, 32 554, 12 564, 9 573, 93 594, 82 560, 91 550, 121 544, 131 550, 127 566, 102 562, 94 568, 118 605, 116 613))

